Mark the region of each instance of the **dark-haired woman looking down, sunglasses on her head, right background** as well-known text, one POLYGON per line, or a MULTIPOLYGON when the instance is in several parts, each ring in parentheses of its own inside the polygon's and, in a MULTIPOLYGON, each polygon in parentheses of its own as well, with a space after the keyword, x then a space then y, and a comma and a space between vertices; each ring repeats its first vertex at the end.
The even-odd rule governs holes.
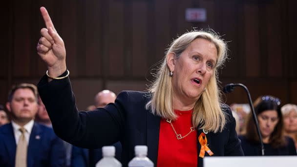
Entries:
MULTIPOLYGON (((279 99, 273 96, 258 97, 254 107, 263 138, 265 155, 297 155, 293 140, 284 135, 279 99)), ((252 114, 248 116, 246 134, 239 138, 246 156, 261 155, 259 137, 252 114)))

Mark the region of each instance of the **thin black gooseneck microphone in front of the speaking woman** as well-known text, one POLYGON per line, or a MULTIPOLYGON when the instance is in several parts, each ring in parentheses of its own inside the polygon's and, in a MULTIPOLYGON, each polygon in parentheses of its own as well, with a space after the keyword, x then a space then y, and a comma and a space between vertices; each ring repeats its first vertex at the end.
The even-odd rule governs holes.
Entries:
POLYGON ((254 118, 254 121, 255 121, 255 125, 256 125, 256 129, 257 129, 257 133, 258 133, 259 140, 260 140, 260 144, 261 144, 261 152, 262 152, 262 156, 264 156, 264 144, 263 144, 263 139, 262 139, 261 131, 260 131, 260 128, 259 128, 259 123, 258 123, 258 120, 257 120, 257 116, 256 116, 256 113, 255 113, 255 108, 254 108, 253 103, 252 103, 251 94, 250 94, 250 92, 249 92, 247 86, 245 86, 244 84, 227 84, 227 85, 223 88, 223 92, 224 92, 224 93, 231 93, 231 92, 234 90, 234 87, 236 87, 236 86, 243 87, 244 90, 246 91, 247 95, 248 95, 249 104, 250 104, 250 107, 251 107, 251 110, 252 110, 252 113, 253 113, 253 118, 254 118))

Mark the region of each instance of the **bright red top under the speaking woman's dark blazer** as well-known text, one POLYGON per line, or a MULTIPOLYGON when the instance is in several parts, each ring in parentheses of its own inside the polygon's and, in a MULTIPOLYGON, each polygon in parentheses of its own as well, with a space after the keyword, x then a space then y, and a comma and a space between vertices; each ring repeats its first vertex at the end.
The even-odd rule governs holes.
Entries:
MULTIPOLYGON (((177 134, 185 136, 191 130, 193 110, 174 111, 179 117, 171 123, 177 134)), ((170 123, 161 119, 157 167, 197 167, 197 142, 197 130, 177 140, 170 123)))

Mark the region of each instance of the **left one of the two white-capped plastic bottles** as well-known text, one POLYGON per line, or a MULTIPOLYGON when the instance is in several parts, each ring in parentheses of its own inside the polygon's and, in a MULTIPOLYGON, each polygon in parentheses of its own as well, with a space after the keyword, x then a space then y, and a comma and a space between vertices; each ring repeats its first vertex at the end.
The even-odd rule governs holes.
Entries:
POLYGON ((98 161, 96 167, 122 167, 122 164, 114 158, 115 147, 114 146, 103 146, 102 147, 103 158, 98 161))

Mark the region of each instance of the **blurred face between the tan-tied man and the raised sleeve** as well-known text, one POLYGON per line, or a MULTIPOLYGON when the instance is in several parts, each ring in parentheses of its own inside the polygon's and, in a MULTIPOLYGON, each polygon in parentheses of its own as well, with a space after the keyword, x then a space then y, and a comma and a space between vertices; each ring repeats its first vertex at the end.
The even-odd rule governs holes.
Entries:
POLYGON ((38 102, 38 112, 36 114, 35 121, 42 125, 52 127, 52 123, 40 97, 38 97, 38 102))

